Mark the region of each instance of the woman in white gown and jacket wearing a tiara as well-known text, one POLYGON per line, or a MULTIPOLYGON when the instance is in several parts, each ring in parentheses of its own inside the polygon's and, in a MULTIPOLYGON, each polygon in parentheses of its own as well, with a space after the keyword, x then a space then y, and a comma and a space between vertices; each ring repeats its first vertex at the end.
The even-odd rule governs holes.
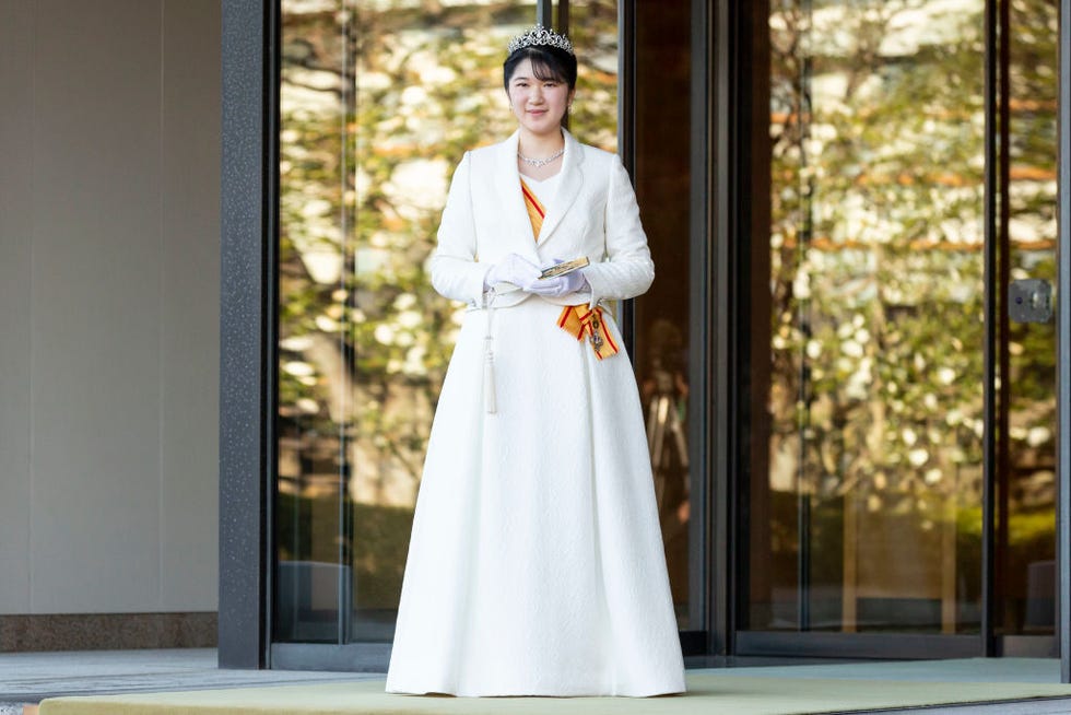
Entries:
POLYGON ((539 25, 516 37, 504 81, 519 127, 461 160, 431 260, 435 289, 469 310, 428 441, 387 691, 683 692, 636 382, 603 309, 654 279, 635 194, 615 154, 562 127, 567 38, 539 25))

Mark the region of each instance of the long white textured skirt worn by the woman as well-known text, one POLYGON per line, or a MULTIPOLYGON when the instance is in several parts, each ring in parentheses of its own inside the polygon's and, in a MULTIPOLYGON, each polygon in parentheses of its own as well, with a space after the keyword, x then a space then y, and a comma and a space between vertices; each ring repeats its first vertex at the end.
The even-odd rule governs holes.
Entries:
MULTIPOLYGON (((432 426, 387 691, 684 691, 632 365, 540 298, 466 315, 432 426)), ((607 314, 615 338, 616 326, 607 314)), ((619 340, 620 344, 620 340, 619 340)))

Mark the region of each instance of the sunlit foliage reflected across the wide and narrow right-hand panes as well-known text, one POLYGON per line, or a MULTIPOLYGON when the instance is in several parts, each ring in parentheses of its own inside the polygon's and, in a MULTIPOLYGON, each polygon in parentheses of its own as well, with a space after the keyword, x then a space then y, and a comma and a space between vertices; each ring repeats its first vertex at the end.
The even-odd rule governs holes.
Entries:
MULTIPOLYGON (((902 558, 939 559, 909 551, 926 542, 913 534, 955 519, 967 574, 987 437, 984 5, 938 7, 774 3, 770 469, 815 504, 844 504, 817 507, 833 520, 814 525, 815 544, 858 508, 901 524, 902 558)), ((1012 3, 1013 279, 1054 278, 1055 12, 1012 3)), ((998 340, 1010 563, 1052 539, 1054 332, 1012 324, 998 340)), ((784 518, 773 547, 791 554, 784 518)))

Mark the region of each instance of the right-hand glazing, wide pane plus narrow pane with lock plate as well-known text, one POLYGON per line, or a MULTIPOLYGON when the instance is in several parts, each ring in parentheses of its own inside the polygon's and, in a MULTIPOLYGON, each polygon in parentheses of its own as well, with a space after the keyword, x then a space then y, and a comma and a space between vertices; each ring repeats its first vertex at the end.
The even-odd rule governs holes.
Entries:
POLYGON ((1051 636, 1058 3, 752 8, 738 652, 1051 636))

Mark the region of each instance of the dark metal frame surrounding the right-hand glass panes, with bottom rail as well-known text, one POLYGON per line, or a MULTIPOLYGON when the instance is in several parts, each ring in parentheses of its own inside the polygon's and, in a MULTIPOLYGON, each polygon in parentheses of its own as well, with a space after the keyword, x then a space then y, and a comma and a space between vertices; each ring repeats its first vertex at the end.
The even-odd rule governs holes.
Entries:
MULTIPOLYGON (((709 396, 708 420, 709 471, 711 477, 710 497, 707 506, 713 515, 713 549, 710 559, 709 593, 709 653, 722 656, 813 656, 813 657, 867 657, 867 658, 919 658, 919 657, 978 657, 978 656, 1024 656, 1051 657, 1062 655, 1064 682, 1071 682, 1071 445, 1068 439, 1057 439, 1057 587, 1059 603, 1055 636, 996 636, 996 596, 993 591, 996 569, 994 540, 994 495, 996 455, 992 439, 987 439, 984 464, 984 543, 982 543, 982 621, 979 634, 938 635, 938 634, 856 634, 816 632, 763 632, 749 631, 738 626, 741 614, 746 612, 746 579, 744 566, 748 563, 746 549, 749 535, 745 518, 746 495, 744 481, 751 469, 750 455, 746 454, 749 435, 746 425, 749 412, 753 413, 754 396, 749 395, 748 386, 758 384, 750 373, 755 361, 750 360, 750 351, 755 342, 750 338, 745 310, 750 290, 766 290, 765 281, 749 280, 761 274, 762 266, 751 261, 762 260, 753 257, 760 249, 749 244, 760 242, 761 218, 751 215, 748 197, 753 190, 763 190, 762 181, 756 183, 754 174, 763 169, 752 156, 762 156, 768 139, 752 127, 764 127, 767 120, 769 97, 761 95, 746 78, 752 72, 768 70, 763 58, 768 56, 766 44, 765 8, 767 2, 709 3, 696 2, 695 27, 705 35, 705 42, 696 42, 696 48, 705 48, 706 63, 711 68, 711 82, 702 97, 703 116, 695 116, 696 124, 706 133, 710 151, 710 165, 704 178, 709 181, 705 207, 701 208, 713 237, 710 263, 713 276, 704 283, 709 295, 710 354, 714 358, 713 392, 709 396), (739 198, 737 198, 739 197, 739 198), (740 239, 740 237, 744 237, 740 239), (751 238, 746 238, 750 236, 751 238), (749 285, 762 283, 762 285, 749 285), (1062 646, 1062 647, 1060 647, 1062 646)), ((1002 61, 1007 61, 1007 47, 1000 45, 1000 24, 1007 23, 997 10, 997 3, 988 0, 986 9, 986 365, 987 384, 993 385, 997 375, 994 363, 996 331, 998 319, 1004 314, 998 305, 999 292, 993 288, 997 276, 997 248, 994 226, 1000 207, 998 191, 1004 192, 1007 175, 998 174, 1000 164, 1000 142, 998 127, 1008 122, 999 116, 1001 102, 998 72, 1002 61), (1003 55, 1003 58, 1002 58, 1003 55)), ((1071 0, 1060 2, 1060 77, 1071 77, 1071 0)), ((1004 33, 1007 37, 1007 32, 1004 33)), ((697 51, 698 54, 698 51, 697 51)), ((767 71, 768 74, 768 71, 767 71)), ((1071 150, 1069 144, 1069 101, 1068 82, 1060 85, 1059 116, 1061 117, 1059 142, 1059 239, 1058 239, 1058 434, 1067 435, 1071 425, 1069 405, 1071 405, 1071 209, 1069 209, 1069 187, 1071 187, 1071 150)), ((696 102, 699 104, 699 102, 696 102)), ((761 349, 761 347, 758 347, 761 349)), ((990 388, 985 396, 986 434, 993 434, 998 420, 996 412, 997 395, 990 388)))

